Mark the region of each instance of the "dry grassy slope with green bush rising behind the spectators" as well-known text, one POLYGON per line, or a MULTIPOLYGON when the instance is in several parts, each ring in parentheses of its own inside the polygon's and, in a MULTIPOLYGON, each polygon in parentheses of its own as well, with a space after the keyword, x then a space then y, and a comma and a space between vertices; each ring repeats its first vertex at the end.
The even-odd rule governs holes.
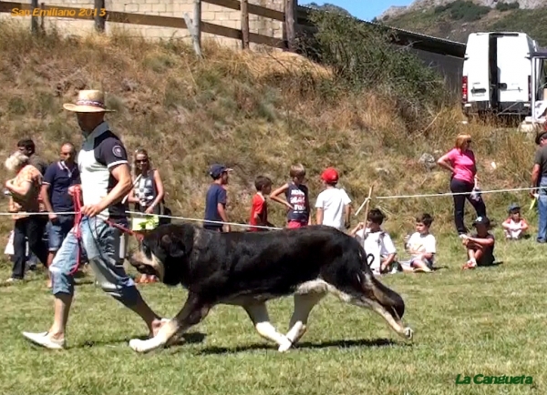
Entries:
MULTIPOLYGON (((438 76, 408 53, 394 52, 382 35, 339 18, 317 19, 315 48, 322 50, 314 56, 324 66, 302 56, 233 52, 211 43, 201 60, 175 41, 63 38, 55 31, 33 37, 27 25, 3 24, 1 157, 22 137, 34 138, 51 161, 62 141, 79 145, 76 117, 62 103, 74 100, 78 89, 100 88, 117 110, 108 115, 113 130, 130 153, 150 150, 168 205, 186 218, 202 218, 211 182, 207 170, 214 162, 235 170, 229 217, 242 223, 254 177, 267 175, 282 185, 298 162, 307 169, 313 203, 328 166, 340 171, 341 187, 355 208, 372 184, 376 196, 447 192, 449 175, 419 159, 424 153, 439 157, 459 132, 473 137, 484 189, 528 186, 532 141, 513 130, 461 125, 458 106, 443 97, 438 76), (363 35, 367 40, 359 39, 363 35)), ((494 218, 504 215, 511 200, 527 201, 525 194, 485 198, 494 218)), ((377 200, 373 206, 387 212, 386 228, 396 236, 423 211, 437 218, 438 232, 453 228, 449 197, 377 200)), ((284 214, 271 204, 274 224, 283 226, 284 214)), ((7 236, 10 219, 2 225, 7 236)))

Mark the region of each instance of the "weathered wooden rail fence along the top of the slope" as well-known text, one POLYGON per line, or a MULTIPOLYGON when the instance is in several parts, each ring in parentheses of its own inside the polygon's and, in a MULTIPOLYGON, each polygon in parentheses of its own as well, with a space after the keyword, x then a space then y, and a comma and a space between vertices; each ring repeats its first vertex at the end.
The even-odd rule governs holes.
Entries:
POLYGON ((248 48, 249 43, 272 46, 289 51, 295 50, 296 24, 298 20, 306 19, 306 11, 298 9, 295 0, 284 1, 284 12, 260 5, 249 4, 248 0, 194 0, 194 12, 192 17, 188 14, 175 16, 144 15, 108 11, 105 0, 95 0, 94 8, 67 7, 46 5, 38 0, 32 0, 31 4, 15 2, 0 2, 0 13, 13 13, 14 9, 22 10, 31 16, 31 29, 34 33, 39 31, 38 20, 43 26, 44 16, 65 17, 70 19, 94 20, 96 30, 105 31, 107 22, 117 22, 130 25, 152 25, 159 27, 174 27, 187 29, 192 37, 196 52, 201 55, 201 33, 221 35, 241 40, 242 47, 248 48), (241 29, 234 29, 222 25, 215 25, 201 20, 201 3, 219 5, 225 8, 241 12, 241 29), (298 12, 298 17, 296 13, 298 12), (258 15, 274 19, 283 23, 283 38, 252 33, 249 29, 249 15, 258 15))

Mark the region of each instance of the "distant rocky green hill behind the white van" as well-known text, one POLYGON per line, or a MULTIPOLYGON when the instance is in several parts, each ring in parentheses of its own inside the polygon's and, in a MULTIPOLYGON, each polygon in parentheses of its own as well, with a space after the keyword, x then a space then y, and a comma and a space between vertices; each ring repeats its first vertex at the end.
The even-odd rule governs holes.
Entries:
POLYGON ((547 0, 416 0, 391 7, 376 22, 466 42, 478 31, 524 32, 547 46, 547 0))

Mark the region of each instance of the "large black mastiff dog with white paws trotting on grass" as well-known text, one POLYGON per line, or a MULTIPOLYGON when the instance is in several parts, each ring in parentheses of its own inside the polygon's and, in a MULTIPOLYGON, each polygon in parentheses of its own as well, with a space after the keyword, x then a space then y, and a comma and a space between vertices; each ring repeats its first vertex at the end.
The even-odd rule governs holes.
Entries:
POLYGON ((154 338, 129 341, 138 352, 169 344, 217 304, 243 307, 256 331, 286 351, 304 335, 310 311, 327 293, 376 311, 399 335, 412 338, 412 329, 401 322, 403 299, 374 278, 356 239, 335 228, 218 233, 162 225, 143 238, 129 262, 140 273, 189 291, 181 311, 154 338), (270 323, 265 303, 291 294, 294 313, 284 335, 270 323))

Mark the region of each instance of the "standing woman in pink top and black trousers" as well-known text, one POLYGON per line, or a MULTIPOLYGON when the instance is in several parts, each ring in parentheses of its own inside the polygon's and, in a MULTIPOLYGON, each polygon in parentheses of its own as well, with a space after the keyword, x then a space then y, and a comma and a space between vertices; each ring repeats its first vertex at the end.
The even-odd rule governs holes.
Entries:
MULTIPOLYGON (((475 187, 475 178, 477 177, 477 166, 475 155, 470 149, 470 135, 459 135, 456 138, 456 147, 447 154, 439 157, 437 163, 452 173, 450 178, 450 190, 452 193, 471 193, 475 187)), ((471 206, 475 208, 477 217, 486 217, 486 206, 482 197, 471 197, 470 195, 454 195, 454 223, 458 234, 466 234, 463 221, 465 199, 470 201, 471 206)))

